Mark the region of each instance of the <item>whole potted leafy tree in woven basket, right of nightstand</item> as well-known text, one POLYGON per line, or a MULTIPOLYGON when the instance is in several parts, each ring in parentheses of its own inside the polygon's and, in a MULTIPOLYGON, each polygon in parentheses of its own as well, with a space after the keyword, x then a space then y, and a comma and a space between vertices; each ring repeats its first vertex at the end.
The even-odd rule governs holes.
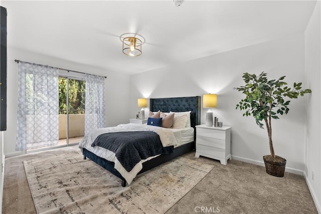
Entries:
POLYGON ((258 76, 244 73, 245 86, 234 88, 246 95, 236 105, 236 109, 245 110, 243 116, 252 115, 260 128, 263 128, 262 121, 265 122, 271 154, 263 156, 263 160, 266 172, 277 177, 284 176, 286 160, 274 153, 271 119, 279 119, 277 115, 288 113, 290 101, 284 98, 292 99, 311 93, 310 89, 302 89, 302 83, 294 83, 292 89, 287 87, 287 83, 282 81, 284 78, 268 80, 264 72, 258 76))

